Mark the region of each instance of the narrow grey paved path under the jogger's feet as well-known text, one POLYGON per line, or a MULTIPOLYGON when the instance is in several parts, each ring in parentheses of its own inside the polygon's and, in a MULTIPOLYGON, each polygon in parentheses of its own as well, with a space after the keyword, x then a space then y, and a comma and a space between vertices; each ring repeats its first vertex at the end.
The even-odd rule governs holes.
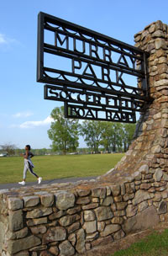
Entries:
MULTIPOLYGON (((51 180, 42 180, 41 184, 55 184, 55 183, 73 183, 79 180, 91 180, 96 179, 97 177, 80 177, 80 178, 65 178, 65 179, 51 179, 51 180)), ((37 182, 27 182, 26 186, 36 185, 37 182)), ((18 183, 10 183, 10 184, 0 184, 0 189, 13 189, 23 187, 18 183)))

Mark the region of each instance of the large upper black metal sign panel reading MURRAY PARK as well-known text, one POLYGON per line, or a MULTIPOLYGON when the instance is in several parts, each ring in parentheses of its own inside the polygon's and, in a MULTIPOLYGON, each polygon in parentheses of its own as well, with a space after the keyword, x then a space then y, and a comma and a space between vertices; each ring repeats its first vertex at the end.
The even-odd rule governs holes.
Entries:
POLYGON ((39 13, 37 81, 139 93, 136 78, 147 92, 146 58, 138 48, 63 19, 39 13), (133 82, 133 78, 135 80, 133 82))

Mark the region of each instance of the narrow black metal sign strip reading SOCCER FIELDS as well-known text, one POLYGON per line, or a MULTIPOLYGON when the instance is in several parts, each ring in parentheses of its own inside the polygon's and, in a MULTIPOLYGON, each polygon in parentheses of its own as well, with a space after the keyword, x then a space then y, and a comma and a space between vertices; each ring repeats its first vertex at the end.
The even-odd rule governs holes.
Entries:
POLYGON ((92 92, 86 89, 67 88, 45 84, 45 99, 62 101, 74 104, 100 106, 109 109, 136 110, 141 112, 143 102, 138 99, 129 99, 117 95, 92 92))

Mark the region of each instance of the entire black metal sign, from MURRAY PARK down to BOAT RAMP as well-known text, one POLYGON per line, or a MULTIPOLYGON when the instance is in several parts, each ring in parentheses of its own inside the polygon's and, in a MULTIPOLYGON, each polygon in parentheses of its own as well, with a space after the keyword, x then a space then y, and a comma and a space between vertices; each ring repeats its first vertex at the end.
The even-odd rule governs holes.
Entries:
POLYGON ((65 102, 66 117, 136 122, 135 111, 149 100, 147 56, 132 45, 39 13, 37 81, 48 83, 45 99, 65 102))

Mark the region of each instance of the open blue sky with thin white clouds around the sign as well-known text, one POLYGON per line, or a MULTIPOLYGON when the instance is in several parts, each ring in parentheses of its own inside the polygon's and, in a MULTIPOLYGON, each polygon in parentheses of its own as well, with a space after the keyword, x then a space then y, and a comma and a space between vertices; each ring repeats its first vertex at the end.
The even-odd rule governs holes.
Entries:
MULTIPOLYGON (((36 82, 37 16, 49 13, 134 45, 134 34, 158 19, 168 24, 167 0, 0 1, 0 145, 50 147, 50 112, 36 82)), ((80 146, 84 144, 80 140, 80 146)))

